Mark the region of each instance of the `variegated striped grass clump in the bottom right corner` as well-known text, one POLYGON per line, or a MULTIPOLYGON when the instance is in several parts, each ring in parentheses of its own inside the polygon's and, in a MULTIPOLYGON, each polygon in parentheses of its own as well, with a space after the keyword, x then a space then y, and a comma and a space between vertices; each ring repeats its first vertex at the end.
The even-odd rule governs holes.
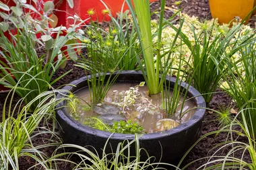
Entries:
MULTIPOLYGON (((204 163, 203 165, 199 165, 197 169, 253 170, 256 168, 255 135, 251 134, 251 126, 253 126, 253 122, 246 121, 246 110, 255 110, 255 108, 245 108, 241 110, 241 112, 239 112, 238 115, 234 118, 234 120, 230 123, 230 126, 224 126, 221 130, 205 134, 197 142, 195 142, 195 144, 197 144, 201 139, 205 138, 206 136, 219 134, 220 132, 226 132, 228 134, 228 138, 230 138, 230 140, 220 142, 220 144, 213 146, 210 151, 214 151, 214 153, 207 157, 201 158, 206 159, 207 162, 204 163), (241 121, 237 119, 238 116, 241 116, 241 121), (241 128, 241 130, 239 130, 238 127, 241 128), (234 136, 234 134, 236 135, 234 136), (246 138, 246 141, 239 141, 239 138, 237 136, 242 136, 243 138, 246 138), (228 149, 228 153, 226 155, 220 155, 220 153, 222 153, 224 149, 228 149), (245 153, 249 153, 249 159, 245 158, 245 153)), ((193 146, 195 146, 195 144, 193 146)), ((191 147, 191 149, 193 148, 193 146, 191 147)), ((191 151, 191 149, 189 149, 189 151, 191 151)), ((189 151, 187 153, 189 153, 189 151)), ((183 159, 187 156, 187 153, 185 154, 183 159)), ((181 162, 183 161, 183 159, 181 159, 181 162)), ((182 169, 188 169, 189 165, 197 164, 197 161, 200 161, 201 159, 192 161, 191 163, 185 165, 185 167, 183 167, 182 169)), ((178 167, 180 167, 181 162, 179 163, 178 167)))

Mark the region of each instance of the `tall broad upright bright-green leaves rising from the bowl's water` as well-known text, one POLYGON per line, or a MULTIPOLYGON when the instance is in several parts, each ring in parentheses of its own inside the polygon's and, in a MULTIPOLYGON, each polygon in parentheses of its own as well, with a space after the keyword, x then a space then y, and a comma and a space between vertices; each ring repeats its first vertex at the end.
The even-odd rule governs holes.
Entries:
MULTIPOLYGON (((153 48, 153 36, 152 36, 152 27, 151 27, 151 13, 150 13, 150 1, 133 1, 134 8, 132 6, 131 0, 127 0, 131 15, 133 16, 133 24, 135 25, 141 51, 143 54, 143 63, 144 67, 140 61, 140 58, 137 58, 139 62, 139 67, 143 72, 146 84, 148 86, 149 94, 155 95, 162 91, 163 83, 160 83, 160 52, 156 55, 156 61, 154 60, 154 48, 153 48), (137 16, 137 17, 136 17, 137 16), (156 65, 155 65, 156 63, 156 65)), ((160 44, 161 35, 162 35, 162 21, 164 17, 164 6, 165 0, 161 1, 161 12, 160 12, 160 23, 158 27, 158 44, 160 44)), ((162 73, 164 77, 164 73, 162 73)), ((162 82, 162 81, 161 81, 162 82)))

